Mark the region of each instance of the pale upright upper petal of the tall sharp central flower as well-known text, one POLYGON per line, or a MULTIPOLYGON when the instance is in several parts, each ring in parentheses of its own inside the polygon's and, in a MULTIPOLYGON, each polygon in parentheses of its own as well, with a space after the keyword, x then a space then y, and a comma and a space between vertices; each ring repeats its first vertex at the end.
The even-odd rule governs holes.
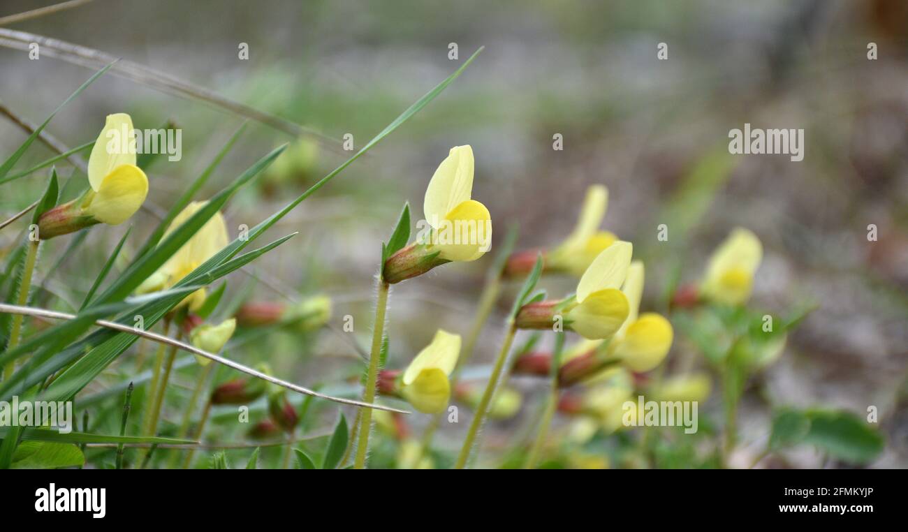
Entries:
POLYGON ((469 145, 455 146, 429 181, 422 205, 426 222, 437 227, 449 212, 469 200, 472 191, 473 149, 469 145))

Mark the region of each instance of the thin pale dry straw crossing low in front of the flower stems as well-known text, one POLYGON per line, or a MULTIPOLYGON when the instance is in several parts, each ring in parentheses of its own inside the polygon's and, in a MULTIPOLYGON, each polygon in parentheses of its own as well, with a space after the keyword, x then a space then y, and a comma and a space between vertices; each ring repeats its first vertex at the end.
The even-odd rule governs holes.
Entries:
MULTIPOLYGON (((54 320, 74 320, 74 319, 76 319, 76 316, 74 314, 67 314, 65 312, 57 312, 55 310, 35 309, 33 307, 21 307, 18 305, 9 305, 6 303, 0 303, 0 312, 6 312, 9 314, 23 314, 25 316, 37 316, 40 318, 51 318, 54 320)), ((267 380, 268 382, 271 382, 272 384, 276 384, 276 385, 281 386, 286 389, 292 389, 293 391, 297 391, 297 392, 300 392, 305 395, 311 395, 312 397, 317 397, 320 399, 328 399, 331 401, 335 401, 335 402, 339 402, 339 403, 343 403, 343 404, 347 404, 347 405, 365 407, 365 408, 369 408, 369 409, 388 410, 390 412, 398 412, 400 414, 409 414, 410 413, 406 410, 392 409, 390 407, 366 403, 366 402, 358 401, 355 399, 343 399, 343 398, 338 398, 338 397, 332 397, 330 395, 325 395, 323 393, 319 393, 312 389, 303 388, 299 385, 293 384, 291 382, 287 382, 286 380, 278 379, 276 377, 271 377, 271 375, 267 375, 265 373, 262 373, 261 371, 257 371, 255 369, 248 368, 246 366, 243 366, 240 363, 234 362, 233 360, 224 359, 223 357, 210 353, 206 350, 200 350, 200 349, 196 348, 195 346, 192 346, 187 343, 183 343, 182 341, 179 341, 179 340, 173 340, 172 338, 170 338, 168 336, 164 336, 163 334, 158 334, 156 332, 151 332, 148 330, 135 330, 130 325, 123 325, 123 323, 117 323, 115 321, 95 320, 94 323, 97 325, 100 325, 101 327, 106 327, 108 329, 113 329, 113 330, 120 330, 122 332, 128 332, 128 333, 134 334, 136 336, 142 336, 149 340, 158 341, 158 342, 182 349, 184 351, 191 352, 192 354, 199 355, 206 359, 214 360, 215 362, 217 362, 219 364, 223 364, 224 366, 227 366, 228 368, 236 369, 236 370, 242 371, 243 373, 246 373, 248 375, 252 375, 252 377, 256 377, 258 379, 264 379, 264 380, 267 380)))

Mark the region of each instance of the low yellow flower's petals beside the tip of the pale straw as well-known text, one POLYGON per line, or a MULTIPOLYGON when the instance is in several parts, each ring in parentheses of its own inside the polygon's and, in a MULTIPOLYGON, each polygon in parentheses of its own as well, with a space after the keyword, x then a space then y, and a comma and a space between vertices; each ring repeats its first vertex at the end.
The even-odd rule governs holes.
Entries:
POLYGON ((436 414, 445 409, 451 393, 448 377, 459 355, 460 335, 439 329, 404 371, 400 395, 420 412, 436 414))

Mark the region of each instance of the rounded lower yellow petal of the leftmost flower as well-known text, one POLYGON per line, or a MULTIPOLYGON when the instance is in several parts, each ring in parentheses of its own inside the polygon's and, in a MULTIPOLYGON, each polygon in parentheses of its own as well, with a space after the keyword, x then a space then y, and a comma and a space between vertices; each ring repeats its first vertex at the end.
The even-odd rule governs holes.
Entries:
POLYGON ((108 173, 85 208, 95 220, 123 223, 139 210, 148 195, 148 178, 138 166, 123 164, 108 173))

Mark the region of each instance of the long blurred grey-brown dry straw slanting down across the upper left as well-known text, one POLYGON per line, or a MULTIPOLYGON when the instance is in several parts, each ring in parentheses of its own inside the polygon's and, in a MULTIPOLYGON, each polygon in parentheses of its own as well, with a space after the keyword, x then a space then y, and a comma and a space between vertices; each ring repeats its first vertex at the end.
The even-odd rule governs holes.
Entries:
MULTIPOLYGON (((47 54, 69 63, 79 64, 90 68, 111 64, 118 59, 115 55, 106 54, 100 50, 88 48, 87 46, 67 43, 58 39, 45 37, 44 35, 0 28, 0 45, 2 46, 14 48, 15 50, 27 51, 29 45, 33 43, 37 43, 41 46, 42 54, 47 54)), ((311 135, 331 146, 338 146, 340 144, 340 141, 311 128, 302 126, 299 123, 293 123, 280 116, 259 111, 258 109, 243 103, 234 102, 204 87, 184 82, 171 74, 154 70, 143 64, 120 59, 111 68, 111 74, 125 77, 136 83, 144 84, 162 91, 163 93, 201 100, 202 102, 221 107, 232 113, 255 120, 256 122, 264 123, 274 129, 289 133, 293 136, 311 135)))

